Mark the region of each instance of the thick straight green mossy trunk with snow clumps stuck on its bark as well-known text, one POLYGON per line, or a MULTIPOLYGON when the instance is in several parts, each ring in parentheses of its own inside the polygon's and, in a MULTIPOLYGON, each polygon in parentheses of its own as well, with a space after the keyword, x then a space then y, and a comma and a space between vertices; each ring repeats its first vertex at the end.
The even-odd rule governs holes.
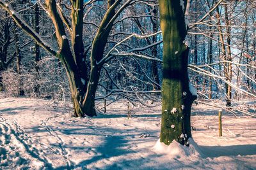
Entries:
MULTIPOLYGON (((184 4, 186 6, 186 3, 184 4)), ((160 141, 188 145, 191 138, 191 104, 196 96, 189 90, 187 27, 180 1, 159 0, 163 31, 162 124, 160 141)))

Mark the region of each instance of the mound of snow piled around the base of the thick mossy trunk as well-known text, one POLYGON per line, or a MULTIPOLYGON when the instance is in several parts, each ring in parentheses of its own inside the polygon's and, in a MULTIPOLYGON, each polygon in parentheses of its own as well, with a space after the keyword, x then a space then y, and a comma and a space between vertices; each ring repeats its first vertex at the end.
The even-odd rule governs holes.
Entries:
POLYGON ((195 143, 193 138, 189 138, 189 146, 180 145, 177 141, 173 140, 170 145, 165 145, 158 139, 156 145, 153 147, 154 152, 168 155, 171 158, 182 158, 182 157, 200 157, 202 152, 195 143))

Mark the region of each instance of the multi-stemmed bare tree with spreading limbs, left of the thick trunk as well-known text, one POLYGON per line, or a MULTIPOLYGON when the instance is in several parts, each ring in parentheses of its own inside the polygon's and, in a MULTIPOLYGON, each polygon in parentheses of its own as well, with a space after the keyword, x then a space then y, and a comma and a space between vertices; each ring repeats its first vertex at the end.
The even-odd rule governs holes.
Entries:
POLYGON ((85 6, 91 3, 93 1, 88 1, 86 4, 81 0, 70 1, 70 6, 68 7, 71 9, 70 23, 59 3, 56 3, 54 0, 45 1, 45 7, 54 25, 56 39, 58 41, 58 50, 55 50, 34 29, 26 24, 6 1, 0 1, 0 6, 8 11, 19 27, 27 32, 31 38, 35 39, 47 52, 61 60, 61 63, 66 69, 70 84, 75 117, 84 117, 85 115, 93 117, 96 115, 94 100, 100 71, 104 64, 102 60, 104 48, 113 22, 131 1, 126 1, 123 4, 121 4, 121 0, 108 1, 107 11, 93 38, 92 49, 90 51, 90 71, 88 71, 86 69, 86 56, 83 44, 83 17, 85 6), (69 36, 65 28, 68 30, 69 36), (69 44, 68 37, 70 37, 71 45, 69 44))

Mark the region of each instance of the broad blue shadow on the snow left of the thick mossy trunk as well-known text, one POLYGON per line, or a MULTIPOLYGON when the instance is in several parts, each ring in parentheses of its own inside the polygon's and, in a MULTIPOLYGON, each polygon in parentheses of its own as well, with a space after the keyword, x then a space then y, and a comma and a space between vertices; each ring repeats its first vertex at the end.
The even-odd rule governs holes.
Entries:
MULTIPOLYGON (((101 127, 99 124, 97 126, 88 126, 88 125, 68 125, 68 128, 56 128, 56 126, 52 127, 48 125, 49 128, 52 129, 52 132, 58 132, 58 135, 67 135, 67 136, 74 136, 78 138, 84 138, 85 145, 72 145, 65 144, 63 148, 67 148, 68 150, 77 153, 84 152, 86 154, 86 158, 81 160, 81 162, 72 162, 72 166, 70 169, 76 169, 82 167, 83 169, 90 169, 88 166, 101 164, 103 161, 103 166, 112 167, 116 169, 116 165, 120 162, 120 159, 116 160, 117 157, 122 157, 124 155, 136 154, 139 152, 143 152, 142 149, 138 148, 138 150, 134 150, 131 148, 131 145, 141 145, 144 143, 145 140, 147 141, 156 141, 157 139, 154 136, 150 136, 148 138, 140 138, 138 133, 145 132, 144 129, 121 129, 115 127, 101 127), (73 128, 74 127, 74 128, 73 128), (99 137, 99 138, 98 138, 99 137), (90 138, 97 138, 92 139, 90 138), (98 140, 98 141, 97 141, 98 140), (92 153, 89 153, 92 152, 92 153)), ((29 129, 26 129, 26 132, 36 133, 39 132, 47 132, 47 129, 42 126, 35 126, 29 129)), ((156 131, 150 131, 150 134, 155 134, 156 131)), ((51 134, 44 134, 40 136, 36 136, 37 138, 49 138, 51 134)), ((81 139, 80 139, 81 140, 81 139)), ((51 143, 50 144, 53 148, 58 147, 58 143, 51 143)), ((138 161, 142 161, 141 160, 138 161)), ((131 164, 131 160, 124 157, 124 162, 127 162, 127 166, 131 164)), ((125 164, 126 165, 126 164, 125 164)), ((54 167, 54 169, 67 169, 68 167, 65 165, 59 165, 58 167, 54 167)))

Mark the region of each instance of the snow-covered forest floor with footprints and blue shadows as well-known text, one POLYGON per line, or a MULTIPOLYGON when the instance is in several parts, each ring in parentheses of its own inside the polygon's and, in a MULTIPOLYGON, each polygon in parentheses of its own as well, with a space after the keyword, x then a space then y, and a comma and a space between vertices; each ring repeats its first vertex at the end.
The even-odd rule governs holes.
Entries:
POLYGON ((127 119, 120 101, 105 115, 72 118, 52 101, 0 94, 0 169, 256 169, 256 118, 223 113, 219 138, 218 108, 193 106, 198 146, 172 143, 169 153, 157 143, 161 106, 132 112, 127 119))

